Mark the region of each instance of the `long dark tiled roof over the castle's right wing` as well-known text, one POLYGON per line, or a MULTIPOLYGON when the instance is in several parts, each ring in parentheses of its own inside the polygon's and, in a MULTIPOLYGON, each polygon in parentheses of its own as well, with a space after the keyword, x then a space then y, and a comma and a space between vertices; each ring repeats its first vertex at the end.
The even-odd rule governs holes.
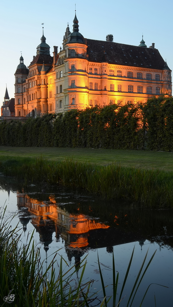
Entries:
POLYGON ((102 62, 105 51, 107 62, 124 66, 163 69, 165 61, 158 49, 87 39, 88 60, 102 62))

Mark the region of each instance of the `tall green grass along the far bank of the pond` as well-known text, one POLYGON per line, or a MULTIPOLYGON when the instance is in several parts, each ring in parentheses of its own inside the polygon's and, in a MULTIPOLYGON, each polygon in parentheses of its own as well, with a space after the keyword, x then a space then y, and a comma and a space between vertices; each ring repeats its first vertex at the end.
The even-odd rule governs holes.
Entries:
POLYGON ((148 207, 173 207, 173 172, 92 165, 72 159, 0 156, 0 171, 29 182, 48 182, 82 188, 103 199, 122 198, 148 207))

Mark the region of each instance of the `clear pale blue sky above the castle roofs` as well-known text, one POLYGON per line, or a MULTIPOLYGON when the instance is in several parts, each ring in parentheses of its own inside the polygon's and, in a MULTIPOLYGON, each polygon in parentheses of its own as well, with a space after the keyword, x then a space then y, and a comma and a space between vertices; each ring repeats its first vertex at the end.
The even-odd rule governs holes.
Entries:
POLYGON ((59 52, 67 22, 72 32, 75 3, 79 32, 84 37, 105 41, 107 34, 113 34, 114 42, 139 45, 143 33, 147 47, 155 43, 155 48, 173 69, 171 0, 6 0, 0 6, 0 105, 6 84, 10 98, 14 97, 14 73, 20 51, 26 66, 36 55, 43 22, 50 54, 53 56, 54 45, 59 52))

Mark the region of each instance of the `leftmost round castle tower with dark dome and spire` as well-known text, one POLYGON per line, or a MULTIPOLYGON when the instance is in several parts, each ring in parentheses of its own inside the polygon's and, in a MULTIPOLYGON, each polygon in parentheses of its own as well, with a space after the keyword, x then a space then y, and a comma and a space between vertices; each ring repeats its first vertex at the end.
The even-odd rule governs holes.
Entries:
POLYGON ((23 116, 23 93, 24 93, 24 86, 23 84, 26 82, 26 78, 28 76, 29 70, 26 68, 26 65, 23 63, 23 56, 21 54, 20 57, 20 64, 16 69, 14 74, 15 76, 15 116, 23 116))

